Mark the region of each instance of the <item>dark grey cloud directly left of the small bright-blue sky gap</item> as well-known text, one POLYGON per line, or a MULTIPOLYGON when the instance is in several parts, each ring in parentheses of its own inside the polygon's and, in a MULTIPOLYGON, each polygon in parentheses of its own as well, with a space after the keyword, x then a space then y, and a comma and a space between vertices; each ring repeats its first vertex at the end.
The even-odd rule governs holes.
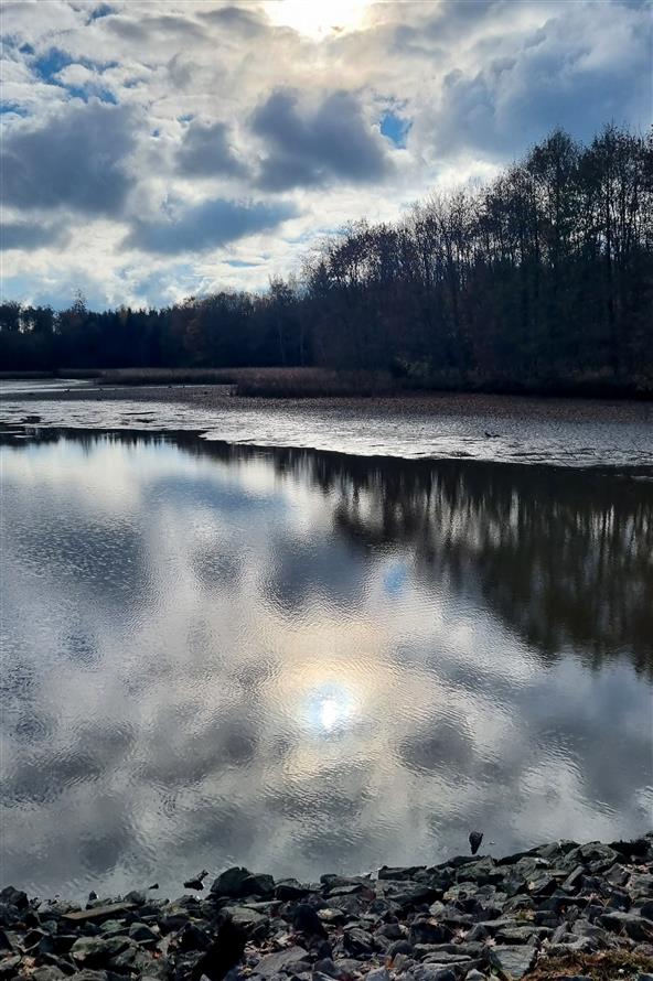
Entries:
POLYGON ((256 109, 251 128, 269 148, 259 175, 269 191, 331 181, 373 183, 389 170, 382 143, 349 93, 332 93, 302 112, 297 93, 278 90, 256 109))

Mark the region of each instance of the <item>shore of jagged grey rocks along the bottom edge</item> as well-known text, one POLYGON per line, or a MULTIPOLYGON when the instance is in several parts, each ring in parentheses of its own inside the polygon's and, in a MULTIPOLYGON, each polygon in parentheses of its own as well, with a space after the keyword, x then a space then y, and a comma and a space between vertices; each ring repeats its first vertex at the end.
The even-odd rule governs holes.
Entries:
POLYGON ((653 981, 653 833, 319 883, 228 869, 85 907, 0 892, 0 979, 653 981))

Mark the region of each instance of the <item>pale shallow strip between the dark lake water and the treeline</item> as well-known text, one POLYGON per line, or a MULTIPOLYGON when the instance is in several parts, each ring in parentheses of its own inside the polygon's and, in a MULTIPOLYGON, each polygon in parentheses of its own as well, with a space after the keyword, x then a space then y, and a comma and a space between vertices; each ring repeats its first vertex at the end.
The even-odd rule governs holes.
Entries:
POLYGON ((39 416, 43 427, 186 430, 227 443, 364 456, 653 467, 653 405, 643 402, 472 397, 460 408, 445 398, 425 409, 400 400, 322 406, 224 399, 203 408, 157 401, 154 394, 151 401, 140 401, 128 389, 125 398, 116 390, 107 401, 12 401, 2 384, 0 395, 0 423, 9 424, 39 416))

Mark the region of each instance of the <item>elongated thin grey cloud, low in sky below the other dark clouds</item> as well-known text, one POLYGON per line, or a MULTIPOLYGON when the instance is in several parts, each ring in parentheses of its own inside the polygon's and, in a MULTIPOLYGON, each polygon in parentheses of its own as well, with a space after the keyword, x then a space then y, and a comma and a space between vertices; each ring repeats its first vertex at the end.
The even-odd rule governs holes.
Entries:
POLYGON ((286 202, 270 205, 218 197, 191 205, 175 217, 137 220, 125 246, 163 255, 201 252, 275 228, 295 214, 293 205, 286 202))

